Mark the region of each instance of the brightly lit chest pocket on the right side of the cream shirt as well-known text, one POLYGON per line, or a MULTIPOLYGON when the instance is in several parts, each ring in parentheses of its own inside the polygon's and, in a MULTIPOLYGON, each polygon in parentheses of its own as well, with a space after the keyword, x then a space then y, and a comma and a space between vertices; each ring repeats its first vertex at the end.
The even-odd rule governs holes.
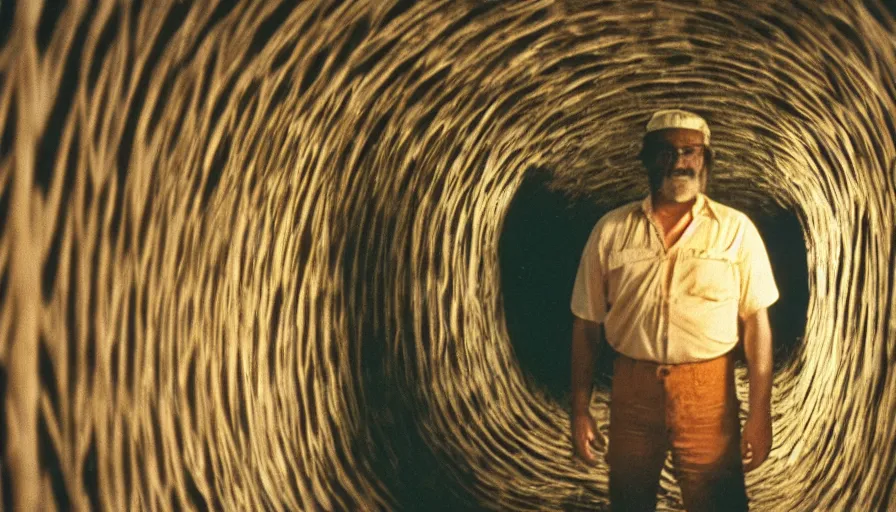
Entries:
POLYGON ((737 300, 740 278, 730 252, 689 250, 682 255, 679 286, 687 295, 710 301, 737 300))

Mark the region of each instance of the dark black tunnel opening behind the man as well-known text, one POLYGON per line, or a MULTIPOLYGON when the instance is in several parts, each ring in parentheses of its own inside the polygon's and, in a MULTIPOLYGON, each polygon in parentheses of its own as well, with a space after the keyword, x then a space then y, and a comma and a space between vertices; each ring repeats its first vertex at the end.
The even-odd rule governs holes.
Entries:
MULTIPOLYGON (((569 298, 582 249, 594 224, 629 199, 600 206, 549 186, 549 172, 530 169, 514 196, 499 242, 507 330, 523 373, 554 399, 569 394, 572 313, 569 298)), ((724 197, 710 192, 713 199, 724 197)), ((809 304, 806 244, 797 216, 780 209, 745 211, 765 241, 781 297, 769 308, 775 370, 802 343, 809 304)), ((611 357, 599 357, 596 381, 609 387, 611 357)), ((742 354, 741 354, 742 357, 742 354)))

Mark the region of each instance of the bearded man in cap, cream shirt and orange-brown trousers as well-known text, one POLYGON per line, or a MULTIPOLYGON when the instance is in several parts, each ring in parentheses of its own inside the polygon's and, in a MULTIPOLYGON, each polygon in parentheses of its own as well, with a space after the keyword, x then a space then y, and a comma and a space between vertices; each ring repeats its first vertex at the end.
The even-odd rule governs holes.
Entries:
POLYGON ((582 254, 571 303, 573 447, 592 465, 593 449, 607 448, 589 411, 605 339, 616 352, 613 510, 656 508, 667 450, 687 510, 746 510, 744 471, 771 449, 767 308, 778 289, 753 223, 702 193, 712 156, 705 120, 655 113, 640 154, 650 195, 601 218, 582 254), (750 381, 743 435, 732 355, 739 321, 750 381))

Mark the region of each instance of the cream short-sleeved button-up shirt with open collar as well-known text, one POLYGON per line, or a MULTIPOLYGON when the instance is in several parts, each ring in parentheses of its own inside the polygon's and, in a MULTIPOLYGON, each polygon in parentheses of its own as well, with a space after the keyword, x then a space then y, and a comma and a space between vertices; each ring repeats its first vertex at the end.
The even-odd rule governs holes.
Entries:
POLYGON ((617 352, 660 363, 712 359, 737 344, 738 316, 778 300, 771 264, 743 213, 699 195, 667 249, 650 197, 611 211, 591 232, 573 286, 574 315, 603 323, 617 352))

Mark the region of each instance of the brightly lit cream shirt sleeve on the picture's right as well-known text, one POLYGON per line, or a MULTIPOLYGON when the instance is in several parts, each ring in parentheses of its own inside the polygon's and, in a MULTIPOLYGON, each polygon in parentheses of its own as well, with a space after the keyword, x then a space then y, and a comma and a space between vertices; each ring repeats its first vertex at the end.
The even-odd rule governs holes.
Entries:
POLYGON ((779 293, 775 276, 765 250, 765 244, 756 226, 747 219, 741 244, 740 303, 741 318, 752 316, 757 311, 777 302, 779 293))

